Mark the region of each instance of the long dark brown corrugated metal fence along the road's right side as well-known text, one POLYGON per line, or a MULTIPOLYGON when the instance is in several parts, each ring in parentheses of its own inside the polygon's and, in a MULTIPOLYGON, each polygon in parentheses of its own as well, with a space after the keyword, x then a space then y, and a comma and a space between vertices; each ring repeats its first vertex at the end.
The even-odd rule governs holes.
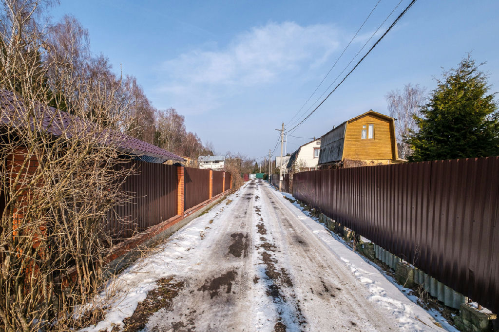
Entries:
POLYGON ((499 312, 499 157, 300 172, 293 195, 499 312))

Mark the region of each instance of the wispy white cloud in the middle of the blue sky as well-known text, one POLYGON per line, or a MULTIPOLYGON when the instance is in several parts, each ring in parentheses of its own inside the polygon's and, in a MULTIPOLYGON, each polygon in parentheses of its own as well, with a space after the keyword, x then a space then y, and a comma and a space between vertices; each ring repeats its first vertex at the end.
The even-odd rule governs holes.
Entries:
POLYGON ((238 35, 223 48, 197 49, 165 61, 167 82, 160 90, 184 109, 199 107, 200 101, 215 102, 241 88, 275 83, 283 74, 317 67, 338 45, 339 32, 332 25, 271 22, 238 35))

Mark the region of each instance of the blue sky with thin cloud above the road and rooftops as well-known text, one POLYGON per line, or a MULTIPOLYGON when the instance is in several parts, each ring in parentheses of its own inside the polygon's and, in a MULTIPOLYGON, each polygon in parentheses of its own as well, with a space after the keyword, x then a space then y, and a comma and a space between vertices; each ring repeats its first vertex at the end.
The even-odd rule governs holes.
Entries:
MULTIPOLYGON (((302 113, 399 1, 379 2, 302 113)), ((75 16, 94 53, 136 76, 155 107, 177 109, 188 130, 217 152, 259 158, 274 148, 274 129, 300 110, 377 2, 61 0, 52 18, 75 16)), ((360 55, 409 2, 402 0, 360 55)), ((470 51, 477 62, 487 61, 482 69, 499 91, 498 12, 496 0, 418 0, 293 133, 304 139, 288 137, 287 152, 369 109, 388 114, 388 91, 407 83, 431 90, 442 67, 456 67, 470 51)))

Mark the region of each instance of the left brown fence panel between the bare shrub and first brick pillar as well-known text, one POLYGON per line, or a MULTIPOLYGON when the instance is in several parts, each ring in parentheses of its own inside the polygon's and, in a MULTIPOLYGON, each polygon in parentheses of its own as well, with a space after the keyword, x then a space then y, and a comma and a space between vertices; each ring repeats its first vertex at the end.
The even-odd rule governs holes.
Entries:
POLYGON ((123 190, 133 196, 131 202, 116 206, 109 217, 107 230, 114 237, 130 237, 177 214, 176 166, 134 160, 116 167, 134 167, 137 173, 123 184, 123 190))

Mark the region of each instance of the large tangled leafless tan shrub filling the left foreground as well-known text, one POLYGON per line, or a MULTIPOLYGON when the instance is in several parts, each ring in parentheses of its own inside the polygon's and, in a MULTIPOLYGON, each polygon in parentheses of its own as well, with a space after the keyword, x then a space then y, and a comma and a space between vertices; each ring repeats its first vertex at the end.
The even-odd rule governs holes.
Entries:
POLYGON ((2 4, 0 329, 79 328, 100 318, 73 314, 103 285, 106 220, 129 198, 120 82, 74 54, 41 62, 52 48, 33 23, 38 1, 2 4))

